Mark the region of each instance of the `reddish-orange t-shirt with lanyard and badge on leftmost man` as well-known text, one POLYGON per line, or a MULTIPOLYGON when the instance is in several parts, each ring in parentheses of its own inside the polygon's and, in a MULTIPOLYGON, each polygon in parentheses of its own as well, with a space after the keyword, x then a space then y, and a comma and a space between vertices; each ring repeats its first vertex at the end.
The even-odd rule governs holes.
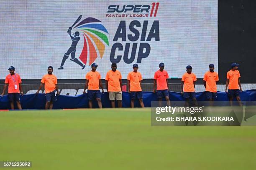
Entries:
POLYGON ((15 93, 15 92, 20 93, 20 87, 19 87, 19 83, 21 83, 20 75, 16 73, 15 75, 8 74, 5 77, 5 83, 8 84, 8 93, 15 93), (15 85, 17 85, 16 89, 15 89, 15 85))

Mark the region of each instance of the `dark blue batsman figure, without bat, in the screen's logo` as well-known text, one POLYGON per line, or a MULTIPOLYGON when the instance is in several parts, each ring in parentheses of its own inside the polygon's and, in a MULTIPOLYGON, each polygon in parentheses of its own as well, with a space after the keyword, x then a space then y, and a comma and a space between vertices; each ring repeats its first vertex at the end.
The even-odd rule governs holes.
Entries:
POLYGON ((67 50, 67 52, 64 54, 63 59, 61 61, 61 66, 58 68, 58 70, 64 69, 64 67, 63 67, 64 63, 65 63, 65 61, 67 60, 67 58, 69 57, 70 54, 71 54, 71 59, 70 59, 71 61, 80 65, 82 67, 82 70, 85 68, 85 65, 82 62, 80 62, 77 58, 75 58, 75 54, 76 54, 76 50, 77 50, 77 43, 80 40, 79 32, 76 31, 73 34, 74 37, 72 37, 71 30, 72 30, 72 28, 70 27, 69 30, 68 30, 68 33, 69 33, 69 36, 72 40, 72 44, 71 44, 71 47, 69 47, 69 50, 67 50))

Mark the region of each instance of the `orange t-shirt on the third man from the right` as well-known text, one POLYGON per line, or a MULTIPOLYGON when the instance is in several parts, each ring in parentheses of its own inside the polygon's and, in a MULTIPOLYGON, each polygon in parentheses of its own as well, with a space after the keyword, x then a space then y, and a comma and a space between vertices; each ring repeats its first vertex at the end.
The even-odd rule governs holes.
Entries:
POLYGON ((182 75, 182 81, 184 81, 183 91, 184 92, 195 92, 194 81, 197 80, 197 76, 194 73, 185 72, 182 75))

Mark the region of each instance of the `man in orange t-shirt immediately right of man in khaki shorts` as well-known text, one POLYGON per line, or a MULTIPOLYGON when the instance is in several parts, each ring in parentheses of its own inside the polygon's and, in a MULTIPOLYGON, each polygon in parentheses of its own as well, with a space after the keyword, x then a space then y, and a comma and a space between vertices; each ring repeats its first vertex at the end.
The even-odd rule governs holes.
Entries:
POLYGON ((144 107, 141 89, 142 76, 138 72, 138 64, 133 65, 133 71, 127 75, 128 92, 131 93, 131 107, 134 107, 134 100, 138 99, 141 107, 144 107))

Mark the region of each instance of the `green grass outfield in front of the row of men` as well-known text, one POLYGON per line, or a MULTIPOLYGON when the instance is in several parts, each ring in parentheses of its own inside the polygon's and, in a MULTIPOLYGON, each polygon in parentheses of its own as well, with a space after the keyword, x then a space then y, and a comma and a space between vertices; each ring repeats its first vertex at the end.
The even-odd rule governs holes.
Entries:
POLYGON ((0 112, 0 161, 32 161, 28 170, 256 169, 256 126, 151 126, 150 112, 0 112))

